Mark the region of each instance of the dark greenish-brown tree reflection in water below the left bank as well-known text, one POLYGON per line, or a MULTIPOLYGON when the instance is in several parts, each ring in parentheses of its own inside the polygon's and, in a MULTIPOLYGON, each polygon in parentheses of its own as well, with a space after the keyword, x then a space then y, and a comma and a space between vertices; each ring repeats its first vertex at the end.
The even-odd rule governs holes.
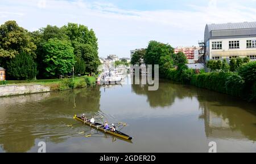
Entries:
MULTIPOLYGON (((100 88, 85 88, 21 96, 15 106, 1 102, 0 145, 6 152, 27 152, 36 146, 36 139, 60 143, 73 135, 67 124, 77 112, 96 113, 100 110, 100 88), (41 97, 31 99, 31 96, 41 97), (74 100, 76 108, 74 109, 74 100), (22 102, 22 103, 21 103, 22 102)), ((13 97, 6 97, 13 100, 13 97)), ((16 97, 19 98, 19 97, 16 97)))

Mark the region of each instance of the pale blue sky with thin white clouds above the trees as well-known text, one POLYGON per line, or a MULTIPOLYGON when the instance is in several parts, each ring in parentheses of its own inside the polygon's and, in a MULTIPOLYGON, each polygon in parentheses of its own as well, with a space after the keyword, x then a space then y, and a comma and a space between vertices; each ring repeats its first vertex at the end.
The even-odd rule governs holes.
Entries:
POLYGON ((0 24, 28 31, 47 24, 84 24, 98 38, 100 57, 130 57, 150 40, 197 46, 206 24, 256 21, 256 0, 1 0, 0 24))

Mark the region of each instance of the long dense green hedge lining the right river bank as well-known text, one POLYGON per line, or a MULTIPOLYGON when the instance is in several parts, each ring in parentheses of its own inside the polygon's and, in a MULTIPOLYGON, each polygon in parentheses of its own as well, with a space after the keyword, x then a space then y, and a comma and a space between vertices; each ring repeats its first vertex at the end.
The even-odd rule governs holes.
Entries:
POLYGON ((256 62, 243 64, 237 72, 197 72, 180 67, 170 69, 167 78, 256 102, 256 62))

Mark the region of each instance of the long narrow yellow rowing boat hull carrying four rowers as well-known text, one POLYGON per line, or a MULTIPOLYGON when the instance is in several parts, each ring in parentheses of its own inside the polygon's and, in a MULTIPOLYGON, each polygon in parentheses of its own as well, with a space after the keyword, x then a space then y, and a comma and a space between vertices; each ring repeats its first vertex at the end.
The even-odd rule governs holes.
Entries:
MULTIPOLYGON (((73 117, 73 119, 79 120, 80 122, 84 123, 84 120, 82 120, 81 118, 79 118, 76 115, 73 117)), ((85 124, 90 126, 90 127, 96 128, 97 130, 100 130, 102 132, 109 133, 110 135, 121 137, 122 139, 126 139, 126 140, 133 139, 133 137, 130 137, 130 136, 126 135, 125 133, 122 133, 122 132, 119 132, 119 131, 112 132, 110 130, 105 130, 104 128, 98 127, 98 126, 102 125, 100 123, 91 124, 89 122, 85 122, 85 124)))

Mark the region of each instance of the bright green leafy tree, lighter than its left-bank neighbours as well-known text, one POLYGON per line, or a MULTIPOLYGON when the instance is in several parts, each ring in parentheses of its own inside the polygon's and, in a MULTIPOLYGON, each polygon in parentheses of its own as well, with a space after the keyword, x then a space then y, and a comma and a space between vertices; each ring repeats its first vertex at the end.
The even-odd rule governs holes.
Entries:
POLYGON ((47 77, 57 77, 72 72, 75 55, 70 42, 51 38, 43 48, 45 54, 43 62, 46 64, 47 77))

